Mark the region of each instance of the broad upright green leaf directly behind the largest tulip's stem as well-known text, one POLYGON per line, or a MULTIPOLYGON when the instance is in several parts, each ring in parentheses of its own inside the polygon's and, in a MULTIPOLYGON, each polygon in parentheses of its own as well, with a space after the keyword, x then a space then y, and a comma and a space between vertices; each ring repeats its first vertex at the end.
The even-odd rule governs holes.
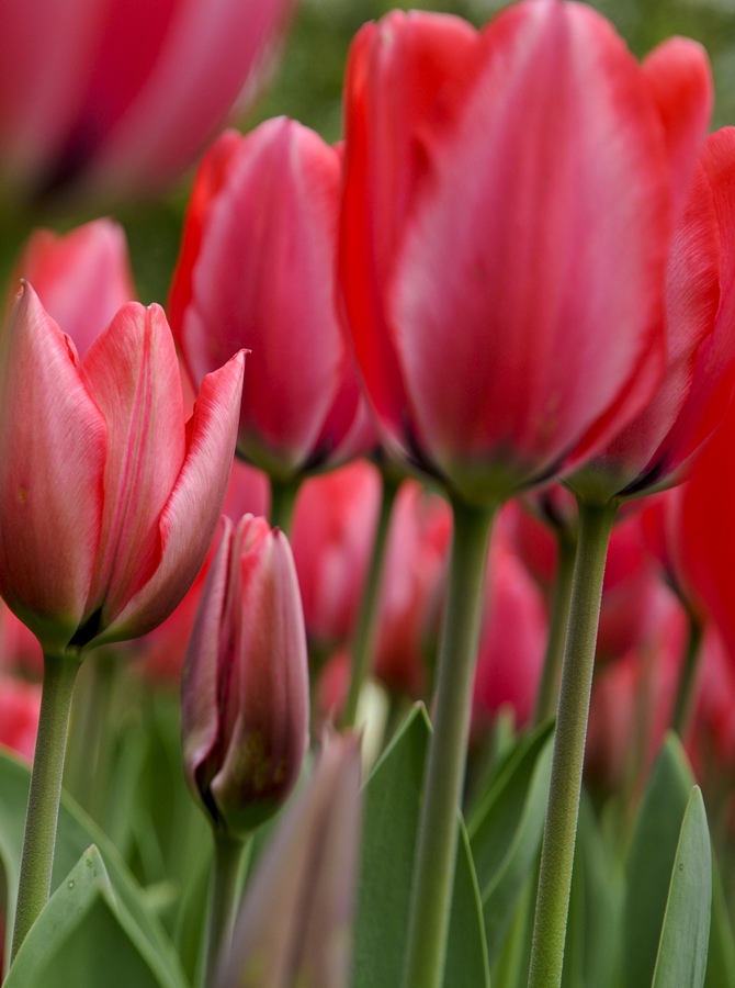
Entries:
MULTIPOLYGON (((417 705, 365 783, 353 988, 385 988, 402 981, 430 734, 426 710, 417 705)), ((462 824, 444 985, 489 986, 477 879, 462 824)))

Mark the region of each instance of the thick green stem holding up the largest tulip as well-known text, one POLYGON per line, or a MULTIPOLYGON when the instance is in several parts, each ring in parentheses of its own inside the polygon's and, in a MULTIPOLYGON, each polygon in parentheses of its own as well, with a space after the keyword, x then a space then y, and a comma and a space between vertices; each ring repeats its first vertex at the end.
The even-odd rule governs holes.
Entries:
POLYGON ((440 988, 493 512, 454 504, 449 597, 408 928, 404 988, 440 988))

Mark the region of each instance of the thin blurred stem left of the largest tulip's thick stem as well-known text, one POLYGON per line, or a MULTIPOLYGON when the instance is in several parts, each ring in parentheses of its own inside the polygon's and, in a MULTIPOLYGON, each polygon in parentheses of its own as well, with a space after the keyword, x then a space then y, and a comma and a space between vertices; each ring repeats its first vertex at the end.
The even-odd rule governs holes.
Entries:
POLYGON ((370 674, 371 662, 375 649, 377 632, 377 605, 381 596, 381 577, 385 548, 388 542, 388 529, 391 528, 391 515, 396 499, 398 484, 383 474, 383 495, 381 499, 381 513, 377 519, 377 529, 373 540, 373 551, 370 558, 370 566, 365 577, 365 585, 360 602, 358 627, 352 642, 352 663, 350 665, 350 687, 344 700, 341 726, 350 728, 354 725, 358 712, 360 692, 370 674))

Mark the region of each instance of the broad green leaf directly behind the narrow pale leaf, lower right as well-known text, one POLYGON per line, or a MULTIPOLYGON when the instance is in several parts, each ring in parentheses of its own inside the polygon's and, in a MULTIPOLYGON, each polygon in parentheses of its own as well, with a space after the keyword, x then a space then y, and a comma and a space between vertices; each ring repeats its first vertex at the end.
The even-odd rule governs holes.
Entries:
POLYGON ((676 734, 656 759, 635 819, 625 871, 625 988, 651 988, 671 867, 694 778, 676 734))

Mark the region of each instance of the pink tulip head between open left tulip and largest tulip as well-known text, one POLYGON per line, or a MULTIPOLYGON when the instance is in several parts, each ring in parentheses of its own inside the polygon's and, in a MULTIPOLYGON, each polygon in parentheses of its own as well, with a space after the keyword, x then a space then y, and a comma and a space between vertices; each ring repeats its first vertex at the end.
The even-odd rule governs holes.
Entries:
POLYGON ((336 288, 340 154, 286 119, 217 141, 200 168, 171 289, 194 381, 246 347, 240 454, 279 480, 375 445, 336 288))

